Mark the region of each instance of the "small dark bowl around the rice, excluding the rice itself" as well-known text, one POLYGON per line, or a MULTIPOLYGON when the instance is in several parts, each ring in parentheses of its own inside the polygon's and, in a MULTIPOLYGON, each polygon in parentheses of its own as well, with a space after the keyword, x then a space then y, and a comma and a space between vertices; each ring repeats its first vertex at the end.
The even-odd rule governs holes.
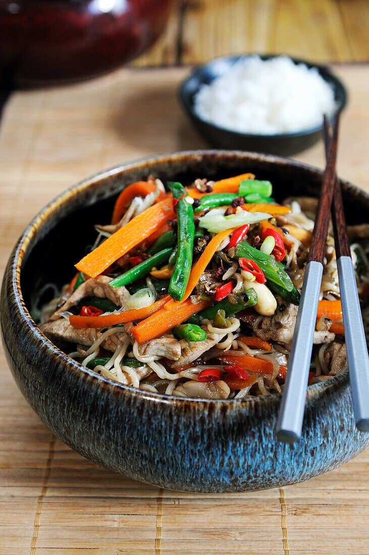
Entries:
MULTIPOLYGON (((248 56, 249 55, 224 56, 215 58, 196 68, 190 77, 185 79, 181 84, 179 98, 185 111, 193 120, 195 127, 199 130, 201 135, 216 148, 252 150, 254 152, 291 156, 292 154, 297 154, 311 147, 322 138, 322 125, 295 133, 259 135, 231 131, 230 129, 209 123, 196 114, 194 110, 194 97, 201 85, 209 84, 216 77, 224 75, 229 71, 232 65, 241 58, 247 58, 248 56)), ((275 57, 276 56, 261 56, 261 59, 266 60, 275 57)), ((341 81, 338 80, 328 68, 323 65, 305 62, 305 60, 292 58, 292 61, 295 64, 304 63, 309 68, 315 67, 319 71, 321 77, 333 88, 337 109, 343 110, 343 108, 345 108, 347 103, 346 89, 341 81)))

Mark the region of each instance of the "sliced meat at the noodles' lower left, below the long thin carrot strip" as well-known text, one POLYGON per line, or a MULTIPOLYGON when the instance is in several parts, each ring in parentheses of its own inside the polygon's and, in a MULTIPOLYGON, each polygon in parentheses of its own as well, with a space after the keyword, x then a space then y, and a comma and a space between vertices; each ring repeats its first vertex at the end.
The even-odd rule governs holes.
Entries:
MULTIPOLYGON (((65 318, 60 318, 59 320, 49 321, 46 324, 40 326, 43 334, 48 337, 51 341, 68 341, 72 343, 79 343, 80 345, 90 346, 92 345, 100 336, 102 332, 94 329, 77 329, 69 324, 68 320, 65 318)), ((117 334, 111 335, 104 339, 101 346, 108 351, 115 351, 117 345, 122 343, 127 338, 125 332, 118 332, 117 334)))

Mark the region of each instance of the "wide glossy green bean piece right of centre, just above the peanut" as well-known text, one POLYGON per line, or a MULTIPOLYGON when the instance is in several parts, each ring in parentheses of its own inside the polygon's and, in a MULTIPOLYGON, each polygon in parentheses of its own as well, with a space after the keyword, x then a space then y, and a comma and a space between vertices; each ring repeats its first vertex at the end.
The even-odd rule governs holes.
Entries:
POLYGON ((240 241, 237 245, 236 258, 249 258, 254 260, 264 272, 266 279, 269 279, 287 291, 292 291, 292 289, 294 289, 294 284, 290 276, 285 270, 282 270, 281 265, 276 262, 275 258, 255 249, 247 243, 247 241, 240 241))

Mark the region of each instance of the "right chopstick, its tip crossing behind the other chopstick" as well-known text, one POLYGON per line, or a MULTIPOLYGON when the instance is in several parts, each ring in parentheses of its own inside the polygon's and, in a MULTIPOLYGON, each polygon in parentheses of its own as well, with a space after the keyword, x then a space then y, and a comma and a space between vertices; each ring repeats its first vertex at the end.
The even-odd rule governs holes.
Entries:
MULTIPOLYGON (((324 117, 323 135, 327 157, 330 135, 326 117, 324 117)), ((361 432, 369 432, 369 356, 357 293, 355 269, 351 258, 341 185, 338 179, 336 179, 333 196, 332 220, 347 361, 350 369, 353 415, 357 429, 361 432)))

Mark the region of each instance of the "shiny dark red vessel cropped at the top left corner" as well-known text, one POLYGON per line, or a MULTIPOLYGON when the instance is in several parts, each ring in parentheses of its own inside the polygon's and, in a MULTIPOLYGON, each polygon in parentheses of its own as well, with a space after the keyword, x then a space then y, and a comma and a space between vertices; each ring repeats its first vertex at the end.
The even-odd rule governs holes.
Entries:
POLYGON ((0 0, 0 72, 19 86, 109 72, 159 37, 174 0, 0 0))

